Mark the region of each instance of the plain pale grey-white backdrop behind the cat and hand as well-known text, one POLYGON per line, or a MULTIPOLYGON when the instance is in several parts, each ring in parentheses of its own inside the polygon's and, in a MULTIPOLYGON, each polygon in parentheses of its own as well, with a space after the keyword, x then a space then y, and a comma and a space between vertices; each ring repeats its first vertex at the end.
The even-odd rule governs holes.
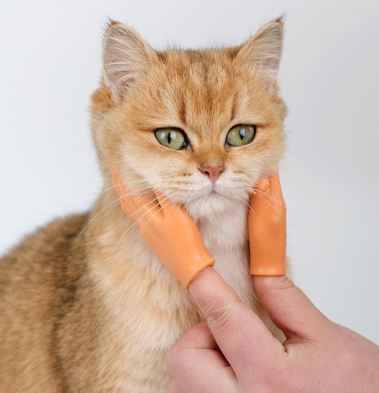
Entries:
POLYGON ((379 2, 2 1, 0 253, 101 190, 89 131, 107 17, 156 49, 234 45, 287 13, 281 178, 292 277, 379 344, 379 2))

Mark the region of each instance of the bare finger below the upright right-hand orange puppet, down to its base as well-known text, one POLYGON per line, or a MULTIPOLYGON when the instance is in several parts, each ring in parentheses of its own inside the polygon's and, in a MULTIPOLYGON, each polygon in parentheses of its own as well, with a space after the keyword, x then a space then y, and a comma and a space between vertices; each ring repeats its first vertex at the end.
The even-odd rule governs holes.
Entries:
POLYGON ((330 321, 286 276, 254 276, 257 296, 287 338, 316 339, 330 321))

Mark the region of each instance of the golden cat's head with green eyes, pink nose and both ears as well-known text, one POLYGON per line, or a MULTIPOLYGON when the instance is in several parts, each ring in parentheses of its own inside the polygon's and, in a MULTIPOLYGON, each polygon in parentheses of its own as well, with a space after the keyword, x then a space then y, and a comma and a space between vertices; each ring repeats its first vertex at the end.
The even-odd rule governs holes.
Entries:
POLYGON ((238 47, 165 52, 111 22, 91 104, 106 179, 113 163, 131 190, 157 188, 196 219, 247 203, 284 151, 282 45, 280 18, 238 47))

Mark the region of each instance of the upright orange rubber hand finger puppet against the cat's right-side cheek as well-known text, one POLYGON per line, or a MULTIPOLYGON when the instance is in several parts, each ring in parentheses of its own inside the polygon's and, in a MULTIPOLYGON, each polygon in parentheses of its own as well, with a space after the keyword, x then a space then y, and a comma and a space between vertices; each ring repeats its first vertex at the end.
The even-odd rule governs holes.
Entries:
POLYGON ((260 179, 249 212, 250 274, 285 274, 286 204, 279 175, 260 179))

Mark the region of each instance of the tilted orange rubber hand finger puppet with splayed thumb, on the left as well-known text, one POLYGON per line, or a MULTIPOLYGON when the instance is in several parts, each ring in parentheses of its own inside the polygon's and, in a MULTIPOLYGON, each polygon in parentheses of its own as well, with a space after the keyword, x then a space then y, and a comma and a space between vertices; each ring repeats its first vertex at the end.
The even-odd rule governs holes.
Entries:
POLYGON ((142 237, 166 268, 188 289, 199 272, 214 264, 195 222, 183 207, 158 190, 154 190, 155 201, 130 192, 116 167, 109 168, 122 210, 139 227, 142 237))

